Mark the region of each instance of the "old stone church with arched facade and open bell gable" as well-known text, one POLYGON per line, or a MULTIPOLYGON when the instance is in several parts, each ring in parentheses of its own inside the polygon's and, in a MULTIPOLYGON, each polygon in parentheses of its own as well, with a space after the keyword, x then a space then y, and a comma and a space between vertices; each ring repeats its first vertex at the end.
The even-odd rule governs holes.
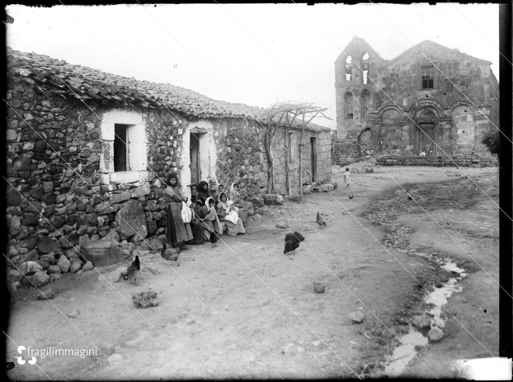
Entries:
POLYGON ((335 62, 333 163, 355 162, 362 150, 377 157, 423 148, 490 156, 481 144, 484 132, 499 127, 499 84, 490 65, 427 40, 386 60, 354 36, 335 62))

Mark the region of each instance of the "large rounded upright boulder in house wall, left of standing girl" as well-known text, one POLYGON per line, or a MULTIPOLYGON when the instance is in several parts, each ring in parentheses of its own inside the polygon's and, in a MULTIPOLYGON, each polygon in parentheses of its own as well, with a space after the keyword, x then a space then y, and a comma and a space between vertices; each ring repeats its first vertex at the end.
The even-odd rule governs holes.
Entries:
POLYGON ((135 199, 130 199, 122 204, 116 214, 115 222, 120 240, 133 237, 132 241, 139 242, 148 234, 143 206, 135 199))

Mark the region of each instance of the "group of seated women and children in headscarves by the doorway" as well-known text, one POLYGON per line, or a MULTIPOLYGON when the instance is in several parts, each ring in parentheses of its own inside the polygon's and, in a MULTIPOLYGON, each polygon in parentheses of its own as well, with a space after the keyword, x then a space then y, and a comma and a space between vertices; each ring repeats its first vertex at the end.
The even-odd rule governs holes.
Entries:
POLYGON ((204 230, 206 240, 210 237, 210 231, 218 235, 226 232, 231 236, 246 233, 239 214, 239 207, 244 207, 244 204, 238 184, 232 183, 228 193, 224 191, 224 185, 218 185, 214 178, 208 183, 202 180, 199 186, 192 184, 189 187, 194 214, 208 228, 204 230))

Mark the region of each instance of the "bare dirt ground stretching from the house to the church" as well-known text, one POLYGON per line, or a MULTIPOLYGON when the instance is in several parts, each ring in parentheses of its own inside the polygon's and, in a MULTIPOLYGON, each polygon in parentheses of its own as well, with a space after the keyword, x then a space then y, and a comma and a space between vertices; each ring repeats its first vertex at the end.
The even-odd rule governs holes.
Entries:
POLYGON ((498 356, 499 195, 491 189, 497 168, 463 169, 489 197, 457 168, 373 168, 352 174, 352 202, 344 169, 333 167, 336 190, 260 208, 262 218, 250 220, 246 235, 225 236, 218 247, 189 246, 179 266, 147 252, 143 268, 160 274, 144 271, 137 285, 108 283, 100 274, 114 265, 43 287, 56 294, 51 300, 36 299, 35 288, 14 292, 8 360, 16 360, 20 345, 98 351, 84 358, 40 356, 36 365, 16 363, 8 376, 383 376, 412 317, 430 309, 426 289, 451 276, 419 254, 450 258, 467 275, 445 305, 448 312, 442 309, 443 338, 417 349, 401 376, 452 377, 452 359, 498 356), (317 211, 327 220, 324 229, 315 223, 317 211), (283 254, 289 231, 276 228, 280 223, 305 236, 291 255, 283 254), (314 293, 314 281, 326 285, 324 293, 314 293), (147 289, 157 292, 159 305, 134 308, 132 295, 147 289), (364 314, 362 323, 352 322, 353 312, 364 314))

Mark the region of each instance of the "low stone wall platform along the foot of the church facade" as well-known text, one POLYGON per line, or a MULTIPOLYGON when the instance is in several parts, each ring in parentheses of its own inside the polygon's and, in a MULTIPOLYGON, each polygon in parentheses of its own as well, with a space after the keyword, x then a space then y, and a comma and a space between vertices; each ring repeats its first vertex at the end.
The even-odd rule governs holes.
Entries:
POLYGON ((460 166, 460 167, 486 167, 497 166, 497 159, 478 157, 477 155, 385 155, 377 159, 381 166, 460 166))

